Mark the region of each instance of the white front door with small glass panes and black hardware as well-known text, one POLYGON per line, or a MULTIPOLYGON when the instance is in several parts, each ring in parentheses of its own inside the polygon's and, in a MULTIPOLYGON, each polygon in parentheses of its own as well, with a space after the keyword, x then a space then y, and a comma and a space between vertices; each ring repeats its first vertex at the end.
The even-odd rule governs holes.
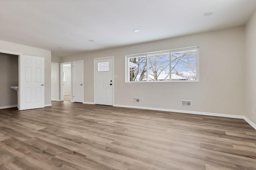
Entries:
POLYGON ((95 104, 113 106, 113 59, 95 60, 95 104))

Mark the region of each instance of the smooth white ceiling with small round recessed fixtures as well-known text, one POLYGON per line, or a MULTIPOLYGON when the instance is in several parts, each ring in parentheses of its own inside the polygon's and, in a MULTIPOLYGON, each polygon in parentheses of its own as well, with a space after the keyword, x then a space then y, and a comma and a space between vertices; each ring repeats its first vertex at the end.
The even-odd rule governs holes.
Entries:
POLYGON ((0 0, 0 40, 63 57, 244 25, 255 9, 256 0, 0 0))

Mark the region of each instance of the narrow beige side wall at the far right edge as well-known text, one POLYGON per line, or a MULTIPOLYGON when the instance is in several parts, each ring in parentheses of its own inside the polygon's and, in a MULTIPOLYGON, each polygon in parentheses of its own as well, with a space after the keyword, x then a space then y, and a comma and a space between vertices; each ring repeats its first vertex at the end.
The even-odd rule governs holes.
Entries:
POLYGON ((256 124, 256 12, 246 25, 246 117, 256 124), (252 109, 255 108, 255 113, 252 109))

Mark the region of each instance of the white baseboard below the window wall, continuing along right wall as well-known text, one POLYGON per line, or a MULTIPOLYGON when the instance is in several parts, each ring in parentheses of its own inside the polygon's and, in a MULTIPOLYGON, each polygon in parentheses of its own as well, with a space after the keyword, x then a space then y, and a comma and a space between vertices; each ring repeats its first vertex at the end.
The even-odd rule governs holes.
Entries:
POLYGON ((200 111, 187 111, 187 110, 176 110, 176 109, 162 109, 162 108, 155 108, 155 107, 141 107, 141 106, 126 106, 126 105, 113 105, 114 107, 128 107, 134 109, 147 109, 147 110, 157 110, 157 111, 169 111, 169 112, 178 112, 178 113, 188 113, 188 114, 195 114, 195 115, 207 115, 207 116, 218 116, 218 117, 230 117, 236 119, 244 119, 249 125, 251 125, 254 129, 256 129, 256 125, 250 121, 245 116, 241 115, 227 115, 221 113, 208 113, 208 112, 200 112, 200 111))

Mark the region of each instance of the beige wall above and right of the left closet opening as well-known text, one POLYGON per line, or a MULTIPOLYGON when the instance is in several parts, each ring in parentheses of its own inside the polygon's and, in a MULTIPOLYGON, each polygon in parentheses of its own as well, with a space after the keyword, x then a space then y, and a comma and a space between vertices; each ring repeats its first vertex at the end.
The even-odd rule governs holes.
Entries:
POLYGON ((44 104, 51 104, 51 51, 1 40, 0 50, 44 57, 44 104))

